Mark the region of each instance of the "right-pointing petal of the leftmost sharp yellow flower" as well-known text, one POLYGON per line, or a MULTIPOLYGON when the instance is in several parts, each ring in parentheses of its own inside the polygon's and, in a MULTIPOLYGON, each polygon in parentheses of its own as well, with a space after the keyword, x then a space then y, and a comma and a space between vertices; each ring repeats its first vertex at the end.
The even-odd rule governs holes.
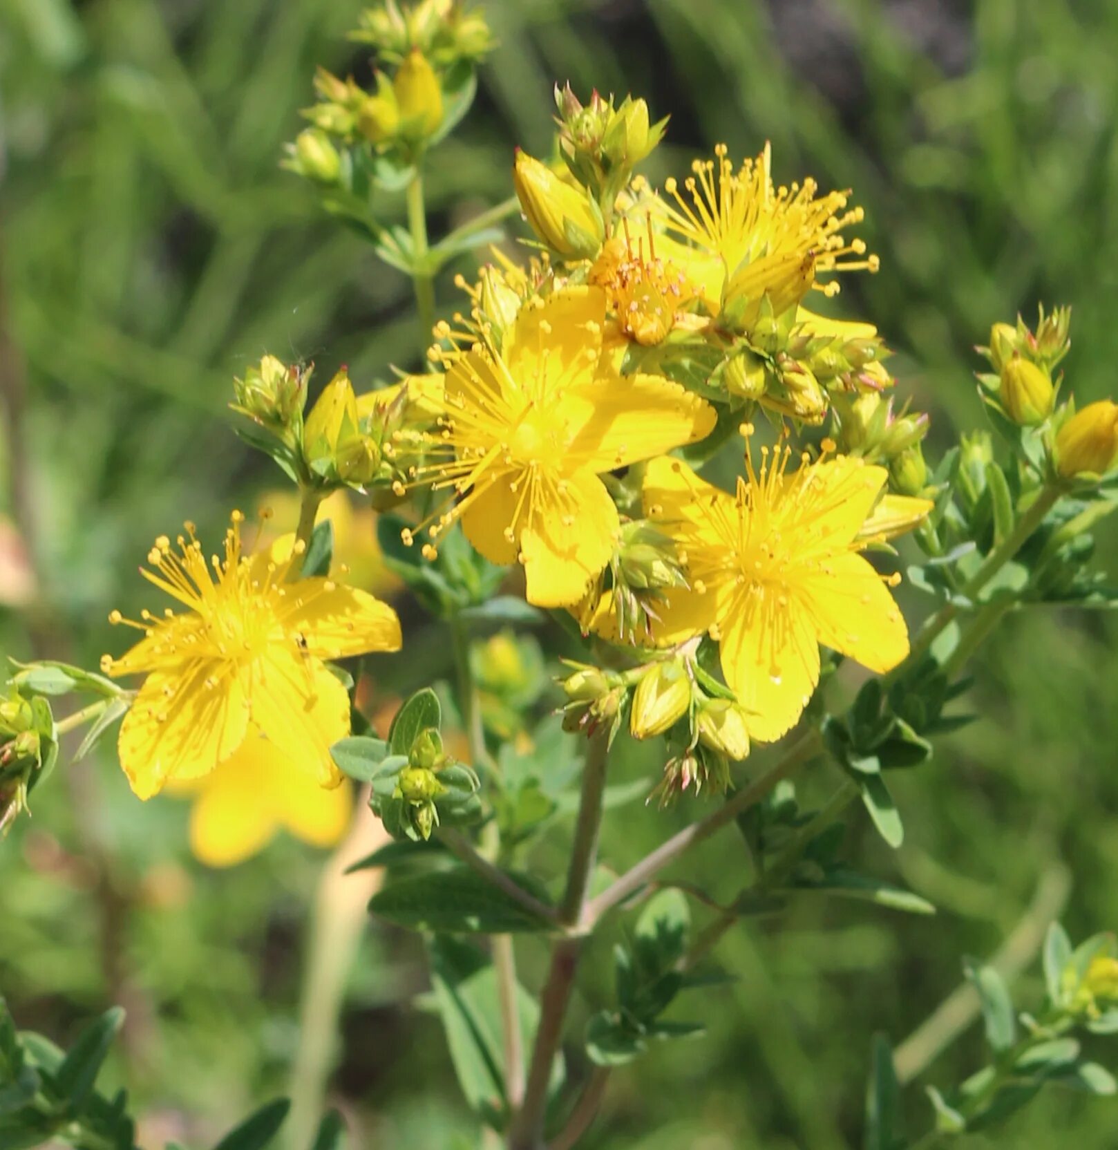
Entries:
POLYGON ((400 649, 396 612, 368 591, 313 577, 292 583, 285 601, 284 627, 300 634, 306 650, 320 659, 400 649))

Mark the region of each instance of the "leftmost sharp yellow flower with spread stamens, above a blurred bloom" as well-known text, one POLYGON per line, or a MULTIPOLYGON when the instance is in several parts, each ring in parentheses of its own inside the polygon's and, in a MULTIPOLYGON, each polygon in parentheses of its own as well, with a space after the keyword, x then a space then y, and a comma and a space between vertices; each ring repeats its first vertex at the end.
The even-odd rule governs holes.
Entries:
POLYGON ((224 559, 209 564, 190 523, 181 554, 166 536, 155 540, 147 557, 155 570, 141 573, 186 612, 109 616, 144 632, 122 658, 101 660, 109 675, 147 675, 118 741, 140 798, 171 779, 209 774, 253 731, 336 784, 330 746, 350 733, 350 700, 323 660, 400 646, 396 612, 367 592, 321 577, 286 582, 290 538, 243 557, 242 520, 233 512, 224 559))

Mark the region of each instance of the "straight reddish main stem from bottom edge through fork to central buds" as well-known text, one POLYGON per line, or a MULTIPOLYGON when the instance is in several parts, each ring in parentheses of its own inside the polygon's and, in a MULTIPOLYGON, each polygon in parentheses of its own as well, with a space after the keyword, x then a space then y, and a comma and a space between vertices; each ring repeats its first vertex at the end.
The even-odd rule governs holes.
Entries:
MULTIPOLYGON (((602 797, 608 754, 608 733, 599 730, 590 738, 582 772, 579 821, 575 825, 567 888, 560 911, 561 920, 568 926, 583 927, 587 918, 587 888, 598 857, 598 830, 602 826, 602 797)), ((531 1048, 524 1101, 513 1114, 508 1127, 510 1150, 538 1150, 543 1145, 547 1082, 551 1065, 562 1041, 562 1027, 581 949, 582 938, 579 936, 559 938, 552 946, 551 967, 541 997, 536 1041, 531 1048)))

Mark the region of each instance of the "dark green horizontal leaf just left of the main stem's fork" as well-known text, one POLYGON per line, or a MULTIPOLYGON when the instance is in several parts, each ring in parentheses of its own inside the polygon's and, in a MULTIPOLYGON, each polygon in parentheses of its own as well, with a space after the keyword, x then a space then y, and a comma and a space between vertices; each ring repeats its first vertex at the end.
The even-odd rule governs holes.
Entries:
MULTIPOLYGON (((511 873, 508 877, 539 902, 546 902, 546 895, 531 879, 511 873)), ((443 934, 518 934, 552 928, 546 919, 467 867, 392 880, 373 896, 369 911, 408 930, 443 934)))

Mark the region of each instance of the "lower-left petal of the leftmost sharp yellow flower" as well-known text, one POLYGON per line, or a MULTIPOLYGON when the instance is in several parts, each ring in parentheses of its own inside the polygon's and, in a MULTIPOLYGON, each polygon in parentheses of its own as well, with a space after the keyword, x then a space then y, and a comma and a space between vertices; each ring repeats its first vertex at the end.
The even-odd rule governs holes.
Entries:
POLYGON ((153 672, 145 680, 117 741, 121 766, 140 798, 158 793, 169 777, 208 774, 244 739, 242 684, 225 673, 225 681, 207 685, 214 674, 197 662, 182 674, 153 672))

